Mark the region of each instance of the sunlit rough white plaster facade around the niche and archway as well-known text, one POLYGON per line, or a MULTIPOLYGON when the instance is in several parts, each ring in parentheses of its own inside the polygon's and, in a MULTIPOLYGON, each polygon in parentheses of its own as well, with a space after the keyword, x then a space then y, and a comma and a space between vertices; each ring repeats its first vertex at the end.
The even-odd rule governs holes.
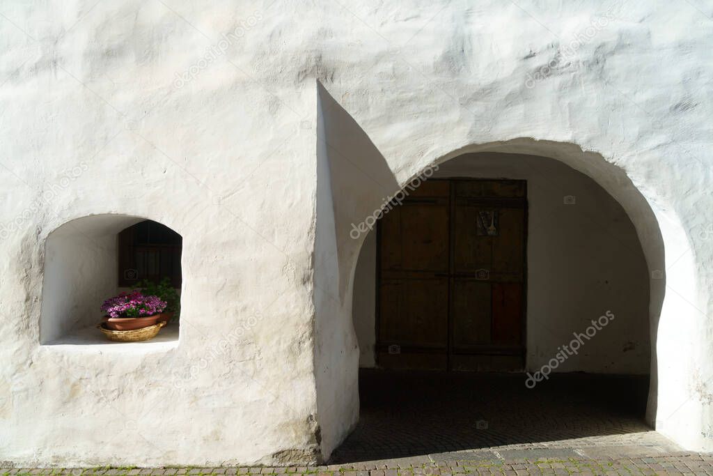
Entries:
POLYGON ((649 419, 713 450, 710 4, 9 1, 0 13, 1 459, 329 457, 358 415, 364 236, 350 224, 426 166, 476 152, 553 158, 620 203, 653 277, 649 419), (43 345, 43 300, 63 289, 51 263, 73 264, 48 238, 112 214, 183 236, 178 344, 43 345))

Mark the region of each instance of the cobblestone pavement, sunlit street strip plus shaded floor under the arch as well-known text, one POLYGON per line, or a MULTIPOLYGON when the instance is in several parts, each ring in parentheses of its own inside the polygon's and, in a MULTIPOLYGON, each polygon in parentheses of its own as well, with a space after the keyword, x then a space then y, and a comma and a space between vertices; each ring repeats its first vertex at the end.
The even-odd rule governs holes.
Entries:
POLYGON ((713 475, 643 421, 647 379, 362 371, 361 419, 318 467, 0 469, 0 475, 713 475))

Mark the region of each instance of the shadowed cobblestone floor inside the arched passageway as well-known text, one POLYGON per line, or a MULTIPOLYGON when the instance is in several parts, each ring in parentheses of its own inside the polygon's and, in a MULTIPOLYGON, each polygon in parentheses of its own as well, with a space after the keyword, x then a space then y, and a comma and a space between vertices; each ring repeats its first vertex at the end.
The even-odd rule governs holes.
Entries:
POLYGON ((332 462, 503 445, 530 448, 543 442, 550 443, 540 446, 570 450, 630 447, 662 438, 644 420, 647 375, 555 374, 533 389, 525 388, 525 378, 517 373, 362 369, 359 424, 332 462))

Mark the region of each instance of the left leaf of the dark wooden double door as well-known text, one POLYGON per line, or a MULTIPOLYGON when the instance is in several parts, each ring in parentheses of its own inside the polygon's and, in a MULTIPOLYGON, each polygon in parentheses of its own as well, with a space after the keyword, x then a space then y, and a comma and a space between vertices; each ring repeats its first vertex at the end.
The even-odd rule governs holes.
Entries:
POLYGON ((448 181, 412 192, 380 226, 379 365, 440 368, 448 350, 448 181), (398 353, 386 348, 398 346, 398 353))

